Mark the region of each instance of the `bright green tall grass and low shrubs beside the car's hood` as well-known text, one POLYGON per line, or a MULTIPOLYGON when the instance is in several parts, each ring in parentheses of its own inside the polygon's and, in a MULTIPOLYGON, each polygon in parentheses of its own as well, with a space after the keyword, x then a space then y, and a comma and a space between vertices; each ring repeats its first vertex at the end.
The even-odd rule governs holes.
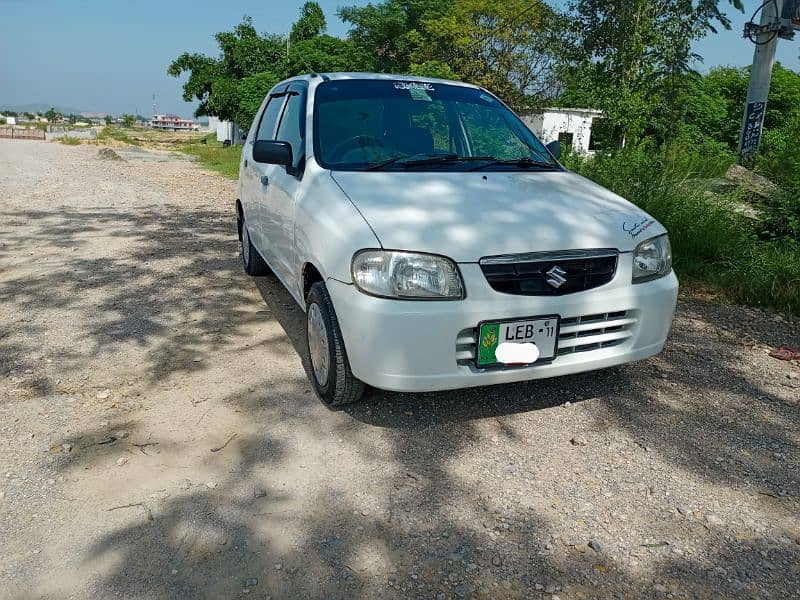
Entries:
POLYGON ((579 173, 640 206, 669 230, 684 281, 715 284, 738 301, 800 314, 800 246, 758 238, 734 210, 741 192, 712 195, 703 178, 723 173, 733 156, 716 144, 651 142, 594 159, 569 158, 579 173))

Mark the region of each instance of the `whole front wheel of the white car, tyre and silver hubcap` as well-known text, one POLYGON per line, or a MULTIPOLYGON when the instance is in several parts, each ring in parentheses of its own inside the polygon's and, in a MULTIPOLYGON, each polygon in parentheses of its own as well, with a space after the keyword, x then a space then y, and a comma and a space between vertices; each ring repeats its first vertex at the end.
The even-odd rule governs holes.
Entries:
POLYGON ((321 281, 311 286, 306 299, 306 340, 311 380, 323 402, 340 406, 358 401, 364 383, 350 370, 333 302, 321 281))

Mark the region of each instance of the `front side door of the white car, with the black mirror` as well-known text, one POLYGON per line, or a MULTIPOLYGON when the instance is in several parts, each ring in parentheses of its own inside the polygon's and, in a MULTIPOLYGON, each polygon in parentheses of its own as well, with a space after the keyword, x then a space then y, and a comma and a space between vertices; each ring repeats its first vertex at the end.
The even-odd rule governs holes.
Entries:
POLYGON ((294 211, 305 166, 305 122, 307 85, 297 82, 289 86, 276 139, 292 146, 291 168, 276 167, 269 174, 266 196, 270 218, 264 220, 266 243, 275 262, 278 276, 293 285, 299 276, 294 243, 294 211))

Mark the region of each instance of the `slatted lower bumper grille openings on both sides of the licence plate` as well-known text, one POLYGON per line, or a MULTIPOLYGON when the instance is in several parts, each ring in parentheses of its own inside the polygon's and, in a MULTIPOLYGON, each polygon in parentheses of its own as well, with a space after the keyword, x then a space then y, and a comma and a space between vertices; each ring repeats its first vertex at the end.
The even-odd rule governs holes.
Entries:
MULTIPOLYGON (((556 357, 622 344, 633 336, 636 320, 632 310, 565 317, 560 321, 556 357)), ((477 327, 461 330, 456 337, 456 363, 476 367, 477 344, 477 327)))

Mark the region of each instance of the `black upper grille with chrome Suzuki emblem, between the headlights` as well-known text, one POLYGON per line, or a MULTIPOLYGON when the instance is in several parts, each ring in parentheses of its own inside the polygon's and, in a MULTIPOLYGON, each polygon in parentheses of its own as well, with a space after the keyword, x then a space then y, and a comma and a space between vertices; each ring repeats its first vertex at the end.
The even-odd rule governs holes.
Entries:
POLYGON ((489 285, 498 292, 561 296, 611 281, 617 270, 617 251, 567 250, 489 256, 480 260, 480 266, 489 285))

